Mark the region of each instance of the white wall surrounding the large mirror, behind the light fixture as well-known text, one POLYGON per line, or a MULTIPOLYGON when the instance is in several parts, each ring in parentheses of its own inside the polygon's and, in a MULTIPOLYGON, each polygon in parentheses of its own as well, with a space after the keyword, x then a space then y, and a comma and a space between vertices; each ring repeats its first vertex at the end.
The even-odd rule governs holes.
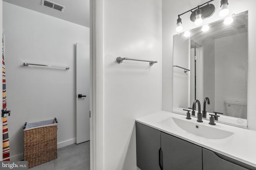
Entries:
MULTIPOLYGON (((196 7, 199 4, 204 3, 203 0, 179 0, 170 1, 162 0, 162 28, 163 28, 163 65, 162 65, 162 96, 163 96, 163 110, 172 111, 172 35, 176 34, 176 20, 178 14, 181 14, 191 8, 196 7)), ((205 23, 210 23, 221 19, 218 16, 220 11, 220 1, 211 2, 216 6, 216 11, 210 18, 204 20, 205 23)), ((228 8, 231 14, 237 14, 248 10, 248 108, 247 108, 247 119, 248 128, 256 130, 256 114, 254 111, 254 103, 256 96, 256 22, 254 16, 256 15, 255 0, 232 0, 229 2, 228 8)), ((192 21, 190 21, 190 13, 184 14, 182 17, 183 30, 190 30, 196 27, 192 21)))

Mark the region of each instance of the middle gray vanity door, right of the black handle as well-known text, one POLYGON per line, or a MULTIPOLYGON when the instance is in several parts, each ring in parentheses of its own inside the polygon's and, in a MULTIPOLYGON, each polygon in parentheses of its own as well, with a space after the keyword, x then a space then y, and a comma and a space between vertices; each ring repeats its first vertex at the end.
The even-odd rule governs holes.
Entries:
POLYGON ((161 132, 163 170, 202 170, 202 147, 161 132))

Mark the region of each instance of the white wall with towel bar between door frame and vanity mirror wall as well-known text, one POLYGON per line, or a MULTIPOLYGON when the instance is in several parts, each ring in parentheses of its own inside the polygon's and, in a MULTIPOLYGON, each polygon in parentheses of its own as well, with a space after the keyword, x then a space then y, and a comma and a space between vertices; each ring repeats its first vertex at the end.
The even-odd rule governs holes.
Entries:
MULTIPOLYGON (((98 123, 103 124, 104 129, 105 170, 137 169, 135 119, 162 108, 161 8, 161 0, 104 0, 102 48, 97 38, 101 32, 96 29, 96 53, 103 50, 101 58, 96 58, 98 64, 102 61, 104 64, 103 113, 100 104, 96 116, 102 114, 104 118, 104 122, 98 123), (138 61, 118 64, 118 56, 158 63, 153 66, 138 61)), ((102 12, 97 9, 96 17, 102 12)), ((96 18, 96 24, 97 19, 100 18, 96 18)), ((101 72, 100 67, 98 71, 101 72)), ((98 79, 100 74, 96 78, 99 82, 102 81, 98 79)), ((101 86, 96 90, 101 90, 101 86)), ((101 147, 100 143, 98 146, 101 147)))

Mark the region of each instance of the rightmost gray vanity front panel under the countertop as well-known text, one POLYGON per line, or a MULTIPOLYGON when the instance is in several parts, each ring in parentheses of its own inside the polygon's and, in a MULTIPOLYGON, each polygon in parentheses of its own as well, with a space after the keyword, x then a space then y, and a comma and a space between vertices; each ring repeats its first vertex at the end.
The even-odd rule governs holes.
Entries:
POLYGON ((249 166, 247 164, 244 164, 232 158, 228 158, 227 156, 224 156, 221 154, 217 155, 213 151, 203 148, 203 169, 204 170, 248 170, 247 168, 250 170, 256 169, 252 166, 249 166), (220 156, 221 157, 223 156, 223 158, 221 158, 220 156))

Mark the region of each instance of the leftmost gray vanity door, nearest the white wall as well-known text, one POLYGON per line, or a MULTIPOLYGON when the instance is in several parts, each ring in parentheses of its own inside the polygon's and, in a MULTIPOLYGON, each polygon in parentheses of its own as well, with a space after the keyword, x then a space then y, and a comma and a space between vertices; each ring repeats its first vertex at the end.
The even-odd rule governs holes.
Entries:
POLYGON ((160 131, 136 122, 137 166, 141 170, 160 170, 160 131))

